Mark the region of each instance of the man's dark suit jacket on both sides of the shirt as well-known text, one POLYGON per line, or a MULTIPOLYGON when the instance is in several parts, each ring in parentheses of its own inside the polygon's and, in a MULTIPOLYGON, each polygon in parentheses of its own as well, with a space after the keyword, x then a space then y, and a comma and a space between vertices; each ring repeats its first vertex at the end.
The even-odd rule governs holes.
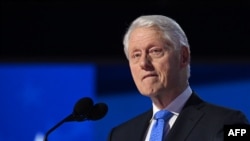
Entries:
MULTIPOLYGON (((113 128, 108 141, 144 141, 152 114, 150 109, 113 128)), ((169 131, 167 141, 223 141, 223 126, 241 123, 248 121, 240 111, 209 104, 193 93, 169 131)))

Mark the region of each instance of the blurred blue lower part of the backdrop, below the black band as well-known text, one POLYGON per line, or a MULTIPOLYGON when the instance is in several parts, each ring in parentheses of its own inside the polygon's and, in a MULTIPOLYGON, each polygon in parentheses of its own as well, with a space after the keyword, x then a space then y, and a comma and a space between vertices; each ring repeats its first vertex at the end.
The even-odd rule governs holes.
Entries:
MULTIPOLYGON (((190 85, 200 97, 239 109, 250 119, 248 63, 192 64, 191 70, 190 85)), ((105 102, 107 115, 98 121, 64 123, 49 141, 106 140, 113 126, 151 107, 134 87, 127 64, 2 63, 0 140, 42 141, 82 97, 105 102)))

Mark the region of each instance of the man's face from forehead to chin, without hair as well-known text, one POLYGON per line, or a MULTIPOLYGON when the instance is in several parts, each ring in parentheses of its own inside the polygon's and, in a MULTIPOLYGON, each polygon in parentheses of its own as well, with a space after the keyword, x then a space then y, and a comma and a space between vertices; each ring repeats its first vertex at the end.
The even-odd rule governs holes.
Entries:
POLYGON ((141 94, 174 91, 181 81, 181 55, 157 28, 137 28, 129 38, 129 66, 141 94))

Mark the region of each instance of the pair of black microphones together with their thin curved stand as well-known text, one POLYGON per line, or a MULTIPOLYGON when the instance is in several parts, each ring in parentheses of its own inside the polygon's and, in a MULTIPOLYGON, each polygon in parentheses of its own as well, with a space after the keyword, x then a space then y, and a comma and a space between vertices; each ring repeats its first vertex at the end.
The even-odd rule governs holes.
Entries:
POLYGON ((107 111, 108 106, 105 103, 97 103, 93 105, 93 101, 91 98, 82 98, 75 104, 72 114, 64 118, 62 121, 57 123, 54 127, 46 132, 44 141, 48 141, 49 134, 64 122, 99 120, 106 115, 107 111))

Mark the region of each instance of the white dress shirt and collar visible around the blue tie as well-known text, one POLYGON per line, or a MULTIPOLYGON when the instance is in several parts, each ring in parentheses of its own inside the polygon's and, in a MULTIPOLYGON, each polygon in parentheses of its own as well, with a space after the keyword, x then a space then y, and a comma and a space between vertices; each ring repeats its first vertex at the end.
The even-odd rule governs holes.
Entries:
MULTIPOLYGON (((172 126, 174 125, 175 120, 179 116, 180 111, 182 110, 184 104, 187 102, 187 100, 191 96, 191 94, 192 94, 192 90, 191 90, 190 86, 188 86, 178 97, 176 97, 174 99, 174 101, 172 101, 166 108, 164 108, 165 110, 168 110, 168 111, 173 113, 173 116, 166 123, 165 129, 164 129, 164 131, 165 131, 164 138, 166 137, 167 132, 169 131, 169 129, 171 129, 172 126)), ((153 103, 153 116, 159 110, 160 109, 158 109, 155 106, 155 104, 153 103)), ((155 120, 152 117, 151 120, 150 120, 150 125, 148 127, 148 131, 147 131, 147 134, 146 134, 145 141, 149 141, 151 129, 152 129, 154 123, 155 123, 155 120)))

